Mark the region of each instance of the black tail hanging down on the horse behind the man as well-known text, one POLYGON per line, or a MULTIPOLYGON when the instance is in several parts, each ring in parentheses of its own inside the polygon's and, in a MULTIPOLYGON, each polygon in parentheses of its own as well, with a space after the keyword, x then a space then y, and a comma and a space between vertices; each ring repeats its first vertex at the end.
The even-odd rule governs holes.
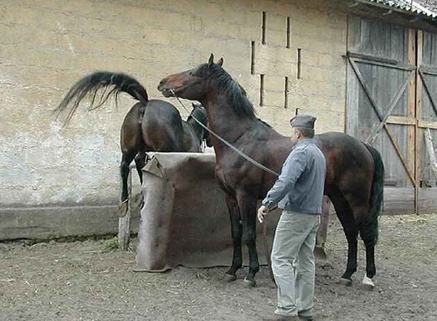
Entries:
POLYGON ((372 155, 375 168, 370 191, 370 217, 361 226, 360 233, 366 246, 375 246, 378 241, 378 217, 384 199, 384 163, 377 149, 367 144, 366 147, 372 155))

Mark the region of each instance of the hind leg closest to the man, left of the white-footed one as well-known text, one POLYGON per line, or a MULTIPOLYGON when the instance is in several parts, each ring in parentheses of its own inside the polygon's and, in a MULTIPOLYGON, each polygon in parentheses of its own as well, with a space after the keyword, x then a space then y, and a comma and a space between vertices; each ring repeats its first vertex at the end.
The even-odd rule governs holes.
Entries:
POLYGON ((358 226, 350 205, 339 191, 329 195, 329 198, 334 204, 337 217, 339 217, 346 239, 348 240, 348 264, 346 265, 345 273, 341 277, 341 283, 350 285, 352 283, 352 274, 357 271, 358 226))

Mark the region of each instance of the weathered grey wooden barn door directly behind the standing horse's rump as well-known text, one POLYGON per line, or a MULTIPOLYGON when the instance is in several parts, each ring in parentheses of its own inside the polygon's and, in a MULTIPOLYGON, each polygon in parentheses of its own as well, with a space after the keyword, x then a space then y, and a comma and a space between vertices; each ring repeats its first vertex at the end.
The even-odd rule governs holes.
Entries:
POLYGON ((346 132, 382 153, 384 213, 416 211, 415 44, 413 30, 349 18, 346 132))

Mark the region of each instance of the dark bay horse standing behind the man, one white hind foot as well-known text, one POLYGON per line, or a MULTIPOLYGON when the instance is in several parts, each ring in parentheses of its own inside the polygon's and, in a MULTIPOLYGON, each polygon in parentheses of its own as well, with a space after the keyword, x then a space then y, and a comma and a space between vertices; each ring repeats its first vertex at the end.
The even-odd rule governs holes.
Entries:
MULTIPOLYGON (((278 134, 255 116, 254 108, 241 86, 211 55, 207 64, 161 80, 158 90, 170 97, 198 100, 208 111, 209 128, 241 152, 280 173, 293 145, 289 137, 278 134)), ((366 276, 363 284, 373 286, 376 273, 375 245, 378 216, 382 207, 384 165, 379 152, 347 134, 329 132, 314 138, 327 160, 325 194, 334 203, 348 239, 348 264, 342 280, 352 282, 357 270, 357 237, 366 246, 366 276)), ((236 279, 241 268, 241 238, 249 252, 245 281, 255 285, 259 270, 256 239, 257 200, 263 199, 275 183, 275 176, 252 165, 212 135, 216 153, 216 179, 226 194, 234 246, 232 266, 225 279, 236 279)))

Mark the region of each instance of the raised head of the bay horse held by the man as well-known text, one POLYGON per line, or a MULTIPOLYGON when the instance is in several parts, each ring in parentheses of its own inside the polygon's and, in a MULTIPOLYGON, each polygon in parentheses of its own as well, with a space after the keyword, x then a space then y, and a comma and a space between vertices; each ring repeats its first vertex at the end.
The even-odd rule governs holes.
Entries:
POLYGON ((180 98, 201 101, 207 91, 207 83, 214 70, 221 68, 223 58, 214 63, 214 55, 211 54, 207 64, 201 64, 194 69, 169 75, 160 81, 157 89, 165 97, 172 97, 171 90, 180 98))

